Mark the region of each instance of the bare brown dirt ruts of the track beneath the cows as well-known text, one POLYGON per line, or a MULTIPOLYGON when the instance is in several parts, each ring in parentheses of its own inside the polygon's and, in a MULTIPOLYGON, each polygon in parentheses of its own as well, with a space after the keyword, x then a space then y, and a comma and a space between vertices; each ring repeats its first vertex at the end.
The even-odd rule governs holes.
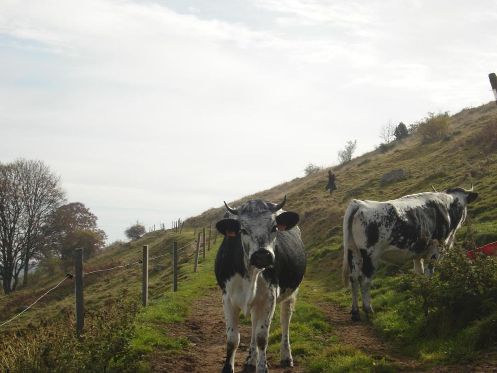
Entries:
MULTIPOLYGON (((340 343, 351 345, 368 356, 381 359, 399 367, 400 372, 429 373, 492 373, 497 372, 495 359, 490 363, 479 365, 447 366, 423 369, 412 358, 403 356, 396 346, 376 333, 365 321, 352 322, 350 314, 337 304, 322 303, 319 307, 327 315, 327 321, 333 328, 340 343)), ((273 320, 274 321, 274 320, 273 320)), ((277 322, 277 320, 276 320, 277 322)), ((151 370, 155 373, 219 373, 222 370, 225 347, 225 321, 221 306, 221 292, 212 287, 206 296, 192 304, 190 316, 185 322, 174 325, 171 336, 187 338, 189 347, 180 355, 155 354, 151 359, 151 370)), ((250 343, 250 327, 240 325, 240 347, 237 351, 235 372, 241 372, 250 343)), ((268 354, 269 372, 271 373, 306 373, 305 367, 295 359, 294 368, 282 369, 278 365, 279 356, 268 354)))

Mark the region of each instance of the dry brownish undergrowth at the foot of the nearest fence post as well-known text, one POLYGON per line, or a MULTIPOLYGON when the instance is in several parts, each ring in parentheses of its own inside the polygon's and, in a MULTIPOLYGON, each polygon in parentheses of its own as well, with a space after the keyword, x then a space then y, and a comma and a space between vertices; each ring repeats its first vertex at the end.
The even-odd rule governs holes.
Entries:
POLYGON ((75 337, 72 311, 20 335, 0 335, 0 372, 136 372, 139 357, 130 339, 138 300, 126 297, 123 293, 97 311, 87 311, 81 341, 75 337))

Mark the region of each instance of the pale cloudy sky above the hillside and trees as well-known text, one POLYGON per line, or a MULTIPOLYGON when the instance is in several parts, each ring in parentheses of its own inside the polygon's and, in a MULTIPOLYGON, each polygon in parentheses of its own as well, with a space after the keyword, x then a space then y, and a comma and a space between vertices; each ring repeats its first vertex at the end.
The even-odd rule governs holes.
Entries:
POLYGON ((1 0, 0 162, 42 160, 124 240, 489 102, 496 22, 489 0, 1 0))

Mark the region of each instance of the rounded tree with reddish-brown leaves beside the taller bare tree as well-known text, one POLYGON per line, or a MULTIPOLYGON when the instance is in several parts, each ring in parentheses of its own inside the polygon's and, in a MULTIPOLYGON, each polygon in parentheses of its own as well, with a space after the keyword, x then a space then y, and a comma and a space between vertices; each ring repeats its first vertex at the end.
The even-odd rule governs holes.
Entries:
POLYGON ((107 235, 97 226, 97 217, 81 202, 57 208, 44 226, 45 258, 72 259, 74 250, 83 249, 87 259, 101 250, 107 235))

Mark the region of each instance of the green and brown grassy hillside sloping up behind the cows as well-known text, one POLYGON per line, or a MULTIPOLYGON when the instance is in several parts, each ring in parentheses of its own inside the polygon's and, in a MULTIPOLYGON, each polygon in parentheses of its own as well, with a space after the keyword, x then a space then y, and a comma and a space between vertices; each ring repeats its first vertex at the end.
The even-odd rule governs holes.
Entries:
MULTIPOLYGON (((480 193, 480 196, 474 204, 469 206, 468 224, 459 230, 457 238, 465 245, 470 245, 468 241, 481 245, 497 240, 496 116, 497 106, 494 102, 466 109, 450 117, 450 135, 444 139, 445 141, 422 143, 421 139, 414 134, 402 142, 396 142, 394 148, 386 154, 375 150, 346 165, 334 167, 338 190, 333 192, 332 196, 324 190, 327 184, 328 169, 326 169, 230 202, 232 206, 238 206, 251 198, 262 198, 276 202, 280 201, 284 194, 287 194, 285 209, 297 211, 301 215, 299 226, 310 263, 307 282, 301 291, 302 299, 297 306, 297 311, 300 309, 301 314, 295 318, 296 332, 292 338, 295 338, 297 356, 300 354, 302 359, 306 359, 306 364, 312 367, 312 372, 348 372, 347 369, 353 372, 354 369, 350 367, 354 367, 354 364, 359 360, 362 362, 361 367, 364 368, 360 370, 361 372, 382 372, 383 368, 380 369, 380 366, 386 367, 385 372, 395 371, 384 363, 373 364, 375 369, 367 368, 374 361, 371 357, 365 356, 364 353, 350 347, 328 346, 328 343, 336 343, 330 336, 332 335, 330 326, 317 320, 323 316, 322 311, 318 309, 319 307, 317 308, 317 304, 320 302, 334 301, 343 307, 349 306, 348 290, 343 290, 341 287, 340 267, 342 217, 351 198, 387 200, 405 194, 429 191, 432 185, 438 190, 442 190, 447 187, 469 188, 470 183, 473 182, 475 191, 480 193), (406 170, 409 177, 400 182, 380 187, 381 176, 398 168, 406 170), (324 343, 321 337, 317 338, 320 335, 326 335, 328 342, 324 343), (314 339, 314 341, 309 342, 309 339, 314 339), (348 359, 348 363, 340 362, 340 364, 345 364, 343 366, 345 368, 333 370, 339 359, 348 359)), ((181 235, 173 233, 172 230, 155 231, 148 233, 140 240, 116 244, 85 262, 84 271, 91 272, 136 262, 141 259, 142 245, 149 245, 150 257, 171 251, 173 241, 178 241, 179 247, 187 245, 196 238, 193 235, 193 227, 208 227, 209 222, 215 222, 223 216, 224 212, 224 206, 220 206, 187 219, 185 222, 187 229, 181 235)), ((162 265, 164 270, 151 270, 150 272, 149 297, 151 306, 147 309, 140 309, 137 306, 141 292, 141 265, 136 264, 124 269, 88 275, 85 278, 85 306, 89 312, 96 312, 91 320, 112 318, 112 315, 102 316, 98 313, 109 307, 121 309, 119 312, 124 312, 123 309, 129 309, 130 311, 126 312, 132 314, 130 318, 134 320, 132 322, 134 329, 131 331, 132 328, 129 327, 126 335, 129 337, 129 333, 131 333, 132 337, 126 337, 129 343, 124 347, 120 346, 121 350, 119 351, 125 351, 123 353, 125 356, 138 356, 138 360, 145 358, 144 361, 147 361, 146 357, 155 350, 167 354, 177 353, 187 345, 187 342, 181 338, 174 338, 173 334, 170 333, 169 326, 171 323, 179 322, 186 317, 188 305, 192 299, 203 296, 205 289, 215 285, 212 274, 212 256, 215 249, 209 254, 210 257, 208 256, 205 265, 202 266, 201 263, 201 273, 196 276, 191 274, 194 245, 189 246, 180 254, 179 278, 182 283, 186 284, 186 288, 180 288, 181 291, 176 294, 172 294, 170 291, 171 257, 166 256, 157 262, 151 262, 152 267, 162 265), (121 305, 121 299, 124 298, 131 299, 134 305, 121 305), (112 302, 109 303, 109 300, 113 300, 112 302, 116 305, 113 305, 112 302)), ((467 265, 464 261, 457 262, 458 258, 451 260, 453 262, 448 263, 447 267, 450 267, 451 263, 459 263, 461 266, 467 265)), ((489 263, 482 264, 482 268, 488 266, 485 267, 488 272, 493 268, 491 267, 493 264, 489 263)), ((419 327, 424 325, 426 317, 421 312, 426 311, 426 309, 417 309, 412 305, 418 304, 419 301, 422 302, 424 299, 422 291, 429 289, 436 292, 437 289, 429 288, 429 286, 438 283, 438 280, 426 284, 418 283, 419 280, 408 273, 410 268, 411 264, 406 264, 400 269, 385 266, 380 271, 373 283, 373 306, 376 306, 377 313, 370 320, 364 322, 371 323, 388 338, 398 341, 400 346, 404 346, 407 354, 428 365, 445 364, 451 359, 461 361, 460 351, 457 354, 453 353, 455 343, 464 337, 461 336, 461 333, 466 333, 464 338, 469 340, 476 334, 481 334, 481 331, 475 332, 475 334, 466 324, 459 325, 457 328, 451 326, 447 327, 448 329, 445 331, 440 331, 437 335, 430 335, 430 342, 426 346, 421 345, 419 341, 423 340, 423 336, 416 334, 419 330, 410 329, 410 327, 414 322, 419 327), (408 274, 401 278, 392 277, 399 271, 408 274), (412 283, 418 288, 414 289, 412 283), (414 294, 415 298, 399 297, 400 291, 414 294), (399 312, 400 305, 407 309, 415 309, 418 313, 403 314, 399 312), (451 330, 455 331, 452 337, 447 334, 447 331, 451 330), (411 339, 407 338, 410 334, 414 336, 411 339), (408 344, 411 344, 411 349, 406 347, 408 344)), ((46 289, 62 280, 65 274, 63 269, 56 270, 51 274, 35 273, 31 276, 32 285, 21 288, 8 296, 0 295, 0 320, 12 317, 23 306, 29 305, 46 289)), ((10 338, 12 332, 19 335, 19 338, 23 338, 30 333, 30 330, 36 330, 40 323, 46 324, 54 320, 66 322, 64 320, 67 320, 68 315, 72 315, 74 312, 73 281, 66 280, 59 288, 36 304, 33 309, 5 325, 0 330, 0 348, 2 341, 6 343, 4 338, 10 338)), ((458 285, 461 284, 458 283, 458 285)), ((471 287, 471 283, 463 285, 471 287)), ((447 286, 447 284, 443 283, 440 286, 447 286)), ((444 289, 454 290, 448 287, 444 287, 444 289)), ((478 291, 480 290, 477 289, 478 291)), ((481 292, 487 294, 485 289, 481 292)), ((489 301, 487 305, 491 307, 494 303, 489 301)), ((433 307, 436 308, 437 305, 435 304, 433 307)), ((123 318, 126 317, 123 316, 123 318)), ((486 329, 490 331, 488 340, 495 341, 497 339, 492 334, 497 330, 492 317, 485 320, 475 320, 471 321, 471 328, 475 330, 478 328, 486 329)), ((96 322, 95 325, 98 323, 96 322)), ((271 330, 270 351, 277 350, 278 329, 275 328, 271 330)), ((125 332, 123 331, 123 335, 125 332)), ((114 337, 111 336, 109 339, 119 340, 119 338, 114 337)), ((8 341, 11 343, 11 340, 8 341)), ((488 347, 486 344, 475 344, 473 350, 479 351, 488 347)), ((118 364, 121 361, 119 359, 116 360, 117 363, 112 364, 118 364)), ((122 364, 127 364, 129 367, 133 366, 124 360, 122 364)), ((148 368, 142 364, 140 369, 146 371, 148 368)))

